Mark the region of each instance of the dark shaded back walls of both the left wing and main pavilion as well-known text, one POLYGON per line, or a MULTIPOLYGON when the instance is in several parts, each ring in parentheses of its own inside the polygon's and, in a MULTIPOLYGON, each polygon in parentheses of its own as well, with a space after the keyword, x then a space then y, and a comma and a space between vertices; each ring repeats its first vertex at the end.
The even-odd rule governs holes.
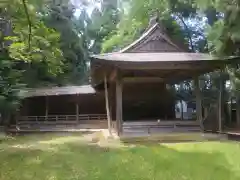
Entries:
MULTIPOLYGON (((116 118, 115 84, 109 86, 112 119, 116 118)), ((79 114, 106 114, 104 90, 96 94, 48 96, 49 115, 74 115, 76 103, 79 114)), ((174 119, 175 103, 172 95, 161 83, 126 83, 123 85, 123 120, 174 119)), ((21 115, 45 116, 46 97, 23 101, 21 115)))

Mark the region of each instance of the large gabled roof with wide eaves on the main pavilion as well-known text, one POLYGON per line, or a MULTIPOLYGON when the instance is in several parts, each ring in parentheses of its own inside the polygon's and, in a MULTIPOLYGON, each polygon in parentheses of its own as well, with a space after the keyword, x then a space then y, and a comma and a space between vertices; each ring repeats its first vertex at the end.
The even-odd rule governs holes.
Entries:
POLYGON ((164 26, 155 18, 142 36, 119 52, 91 56, 92 84, 102 83, 105 76, 111 81, 113 78, 110 75, 116 70, 125 77, 151 74, 163 77, 166 81, 170 76, 183 80, 221 69, 237 60, 235 57, 231 57, 235 61, 229 61, 230 57, 192 53, 187 49, 183 43, 181 45, 170 38, 164 26))

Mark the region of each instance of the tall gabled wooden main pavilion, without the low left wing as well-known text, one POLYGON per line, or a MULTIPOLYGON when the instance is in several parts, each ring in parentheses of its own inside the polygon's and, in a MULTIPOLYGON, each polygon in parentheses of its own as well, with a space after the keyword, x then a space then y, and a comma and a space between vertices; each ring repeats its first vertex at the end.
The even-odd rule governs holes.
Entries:
MULTIPOLYGON (((126 48, 92 56, 92 82, 94 86, 108 84, 105 88, 108 90, 105 96, 109 99, 106 99, 106 102, 109 101, 106 105, 108 118, 110 121, 116 119, 119 134, 123 132, 124 122, 133 119, 146 122, 158 120, 154 123, 158 126, 200 127, 203 126, 203 112, 198 77, 222 69, 229 62, 208 54, 188 52, 184 45, 168 36, 155 18, 143 35, 126 48), (175 118, 175 100, 168 85, 189 79, 195 84, 196 118, 179 121, 175 118)), ((220 104, 219 109, 222 110, 221 107, 220 104)), ((219 119, 215 127, 211 127, 214 130, 222 129, 221 110, 213 120, 219 119)))

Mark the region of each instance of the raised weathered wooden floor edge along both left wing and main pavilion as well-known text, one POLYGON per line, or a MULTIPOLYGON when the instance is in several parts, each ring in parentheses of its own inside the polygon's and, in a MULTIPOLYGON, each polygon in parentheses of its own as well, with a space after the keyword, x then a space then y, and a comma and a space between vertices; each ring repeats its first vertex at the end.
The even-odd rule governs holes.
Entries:
MULTIPOLYGON (((107 120, 89 121, 57 121, 56 122, 30 122, 22 121, 13 125, 10 132, 78 132, 97 131, 108 129, 107 120)), ((115 122, 113 122, 113 127, 115 122)), ((196 121, 133 121, 123 123, 123 134, 126 136, 146 136, 160 133, 200 132, 200 126, 196 121)))

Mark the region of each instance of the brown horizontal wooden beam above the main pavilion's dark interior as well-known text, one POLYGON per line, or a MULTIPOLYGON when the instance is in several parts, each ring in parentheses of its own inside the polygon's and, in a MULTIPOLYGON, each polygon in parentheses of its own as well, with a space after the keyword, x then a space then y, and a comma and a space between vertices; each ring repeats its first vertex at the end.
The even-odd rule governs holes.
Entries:
POLYGON ((124 83, 142 83, 142 82, 159 83, 163 81, 164 81, 164 78, 160 78, 160 77, 125 77, 123 78, 124 83))

